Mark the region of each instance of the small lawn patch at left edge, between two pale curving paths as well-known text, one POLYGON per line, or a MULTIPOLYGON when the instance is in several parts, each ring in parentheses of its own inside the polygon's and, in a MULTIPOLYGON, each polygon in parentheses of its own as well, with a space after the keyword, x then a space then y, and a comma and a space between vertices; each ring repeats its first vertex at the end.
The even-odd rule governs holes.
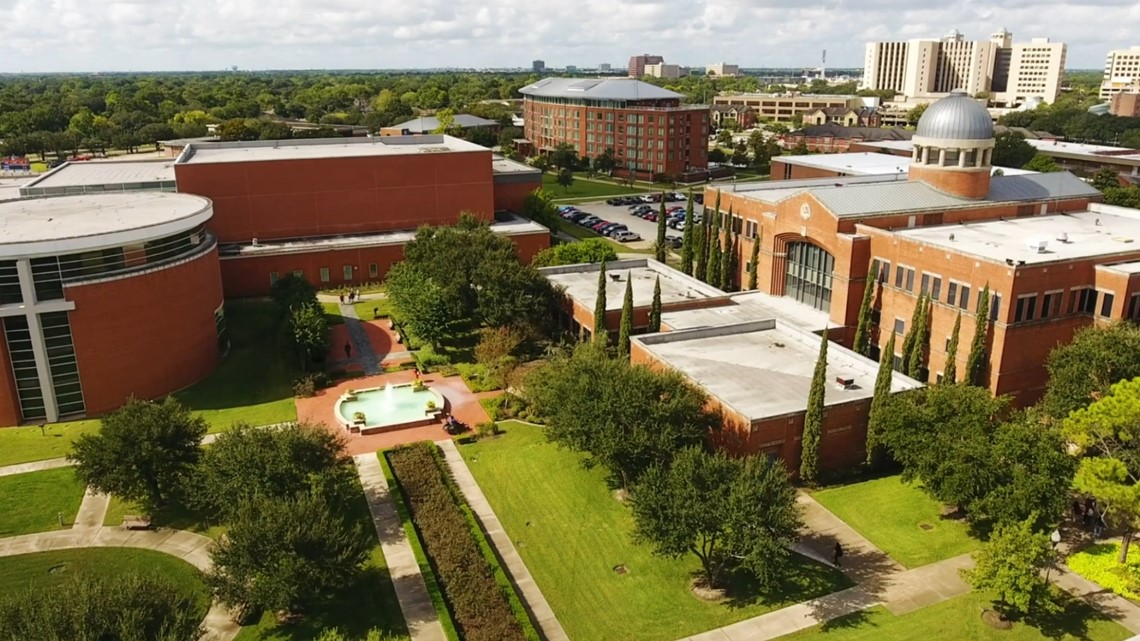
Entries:
POLYGON ((0 477, 0 538, 67 526, 83 502, 83 484, 71 468, 0 477))

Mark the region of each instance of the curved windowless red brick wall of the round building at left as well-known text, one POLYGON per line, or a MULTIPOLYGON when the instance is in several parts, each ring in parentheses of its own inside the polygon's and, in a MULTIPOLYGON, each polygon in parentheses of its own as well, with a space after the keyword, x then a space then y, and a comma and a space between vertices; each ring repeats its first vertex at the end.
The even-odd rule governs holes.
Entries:
POLYGON ((64 291, 90 415, 130 396, 157 398, 218 365, 214 310, 222 303, 218 252, 189 262, 64 291))

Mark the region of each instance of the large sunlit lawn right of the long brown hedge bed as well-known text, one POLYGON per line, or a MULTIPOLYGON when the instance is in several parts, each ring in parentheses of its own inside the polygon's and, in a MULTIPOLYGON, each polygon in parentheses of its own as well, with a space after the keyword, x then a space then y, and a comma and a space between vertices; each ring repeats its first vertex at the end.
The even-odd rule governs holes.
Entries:
POLYGON ((575 641, 675 641, 847 587, 838 571, 796 558, 771 598, 742 590, 724 603, 689 590, 695 557, 662 559, 630 539, 633 519, 600 469, 546 443, 542 428, 461 447, 519 554, 575 641), (613 571, 625 566, 626 574, 613 571))

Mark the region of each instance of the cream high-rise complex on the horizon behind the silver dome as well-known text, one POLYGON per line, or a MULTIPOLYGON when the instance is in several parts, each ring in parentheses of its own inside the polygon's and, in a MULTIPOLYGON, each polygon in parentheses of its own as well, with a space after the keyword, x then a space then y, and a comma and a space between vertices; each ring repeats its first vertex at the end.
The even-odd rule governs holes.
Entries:
POLYGON ((1032 97, 1053 102, 1065 78, 1066 46, 1035 38, 1013 43, 1002 29, 990 40, 966 40, 956 30, 939 40, 869 42, 863 65, 865 89, 935 97, 962 89, 991 95, 999 104, 1032 97))

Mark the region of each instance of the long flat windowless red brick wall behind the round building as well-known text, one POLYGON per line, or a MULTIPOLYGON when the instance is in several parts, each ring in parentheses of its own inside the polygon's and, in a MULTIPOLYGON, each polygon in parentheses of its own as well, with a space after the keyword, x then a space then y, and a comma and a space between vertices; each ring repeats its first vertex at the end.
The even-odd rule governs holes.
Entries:
POLYGON ((178 190, 213 201, 220 242, 455 222, 495 211, 487 152, 176 164, 178 190))

